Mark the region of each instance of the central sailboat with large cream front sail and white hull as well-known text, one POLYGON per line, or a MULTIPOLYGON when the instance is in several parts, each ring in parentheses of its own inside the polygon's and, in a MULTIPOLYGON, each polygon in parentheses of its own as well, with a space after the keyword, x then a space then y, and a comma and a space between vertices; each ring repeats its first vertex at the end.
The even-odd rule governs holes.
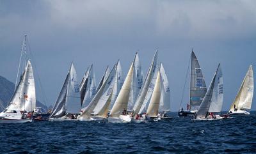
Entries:
POLYGON ((132 61, 131 67, 125 78, 124 84, 118 94, 115 104, 113 105, 108 121, 110 123, 127 123, 131 121, 131 116, 127 115, 127 107, 129 103, 129 96, 131 91, 132 77, 134 73, 134 61, 132 61))

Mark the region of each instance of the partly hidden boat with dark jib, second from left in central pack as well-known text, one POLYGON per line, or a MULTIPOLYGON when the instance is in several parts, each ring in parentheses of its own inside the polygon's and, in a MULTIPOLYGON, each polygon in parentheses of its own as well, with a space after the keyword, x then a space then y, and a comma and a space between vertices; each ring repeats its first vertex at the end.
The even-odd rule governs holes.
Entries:
POLYGON ((87 70, 80 84, 80 96, 81 96, 81 106, 86 107, 91 101, 93 96, 96 94, 96 82, 95 74, 93 72, 93 65, 91 65, 90 70, 87 70))

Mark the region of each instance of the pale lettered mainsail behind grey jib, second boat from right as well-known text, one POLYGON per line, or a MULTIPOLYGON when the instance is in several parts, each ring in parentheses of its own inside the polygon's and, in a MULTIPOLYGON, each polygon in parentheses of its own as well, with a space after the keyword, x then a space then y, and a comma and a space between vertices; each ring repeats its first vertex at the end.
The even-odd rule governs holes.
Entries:
POLYGON ((218 72, 216 72, 216 79, 212 91, 211 105, 209 112, 221 112, 223 105, 223 75, 219 65, 218 72))

